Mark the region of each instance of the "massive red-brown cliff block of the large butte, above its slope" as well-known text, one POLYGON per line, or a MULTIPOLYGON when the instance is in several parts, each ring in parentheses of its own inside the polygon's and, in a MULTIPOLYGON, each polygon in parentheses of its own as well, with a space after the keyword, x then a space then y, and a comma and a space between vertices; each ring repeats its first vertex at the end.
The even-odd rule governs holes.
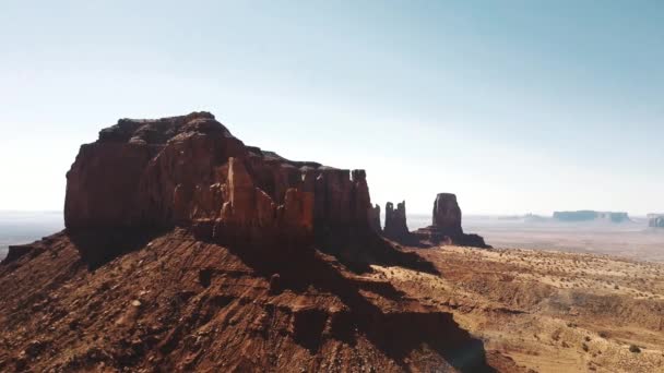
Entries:
POLYGON ((214 116, 121 119, 81 146, 67 175, 68 229, 192 227, 221 243, 311 243, 370 226, 364 170, 247 146, 214 116))

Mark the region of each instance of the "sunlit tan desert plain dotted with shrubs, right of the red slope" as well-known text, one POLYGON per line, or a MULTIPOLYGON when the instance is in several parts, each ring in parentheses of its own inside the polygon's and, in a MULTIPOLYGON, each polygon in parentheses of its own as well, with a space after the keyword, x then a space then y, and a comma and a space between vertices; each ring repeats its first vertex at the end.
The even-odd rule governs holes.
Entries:
POLYGON ((374 266, 375 276, 449 310, 489 352, 536 372, 664 371, 663 264, 517 249, 416 251, 441 275, 374 266))

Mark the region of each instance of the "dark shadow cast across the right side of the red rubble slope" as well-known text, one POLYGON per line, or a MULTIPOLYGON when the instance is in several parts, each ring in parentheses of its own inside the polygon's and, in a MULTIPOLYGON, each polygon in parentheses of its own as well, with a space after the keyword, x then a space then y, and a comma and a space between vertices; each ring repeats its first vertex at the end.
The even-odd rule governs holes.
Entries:
MULTIPOLYGON (((355 346, 358 336, 363 335, 404 369, 407 368, 404 360, 408 353, 424 344, 462 372, 493 372, 486 363, 482 341, 462 329, 452 314, 424 309, 417 301, 404 300, 404 294, 389 281, 366 279, 352 274, 345 276, 336 261, 312 246, 234 245, 227 249, 252 268, 256 275, 269 280, 273 294, 284 290, 305 293, 315 288, 321 293, 331 293, 343 302, 345 308, 342 310, 293 310, 294 340, 311 353, 316 353, 327 338, 355 346), (366 296, 367 293, 377 297, 366 296), (399 306, 380 305, 394 302, 399 306)), ((377 251, 386 255, 381 256, 381 263, 406 263, 418 268, 428 264, 391 246, 390 249, 392 253, 386 248, 379 248, 386 251, 377 251)), ((205 282, 210 282, 210 276, 214 274, 205 274, 205 282)))

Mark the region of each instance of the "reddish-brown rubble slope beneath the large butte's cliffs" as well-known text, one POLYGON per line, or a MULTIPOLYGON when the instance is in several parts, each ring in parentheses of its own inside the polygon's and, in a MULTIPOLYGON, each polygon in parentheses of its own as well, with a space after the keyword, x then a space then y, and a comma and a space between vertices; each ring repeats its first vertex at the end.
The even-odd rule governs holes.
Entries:
MULTIPOLYGON (((0 371, 523 371, 485 354, 443 304, 315 249, 99 234, 60 232, 0 265, 0 371), (99 242, 123 254, 91 266, 78 248, 99 242)), ((395 255, 384 265, 437 276, 395 255)))

